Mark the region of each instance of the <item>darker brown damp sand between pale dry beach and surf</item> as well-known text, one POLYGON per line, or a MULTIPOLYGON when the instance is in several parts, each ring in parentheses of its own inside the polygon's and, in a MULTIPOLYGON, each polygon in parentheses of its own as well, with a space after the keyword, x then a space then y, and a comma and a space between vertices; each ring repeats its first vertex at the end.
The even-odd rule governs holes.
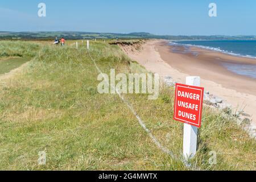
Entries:
POLYGON ((246 57, 236 57, 226 55, 220 52, 213 52, 206 49, 191 47, 191 52, 196 52, 197 55, 187 52, 184 53, 184 47, 175 48, 167 46, 167 42, 159 42, 156 44, 156 49, 166 63, 172 68, 188 75, 200 76, 206 80, 217 82, 225 88, 235 89, 238 92, 256 95, 256 79, 238 75, 226 69, 222 64, 256 64, 255 59, 246 57), (178 50, 177 49, 181 49, 178 50), (180 53, 177 53, 180 52, 180 53))

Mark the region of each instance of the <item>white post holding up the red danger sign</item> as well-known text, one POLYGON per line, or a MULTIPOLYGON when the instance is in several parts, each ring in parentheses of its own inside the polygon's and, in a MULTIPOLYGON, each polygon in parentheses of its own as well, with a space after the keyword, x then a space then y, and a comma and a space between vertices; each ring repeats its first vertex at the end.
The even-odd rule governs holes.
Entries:
MULTIPOLYGON (((186 85, 200 86, 200 77, 187 77, 186 85)), ((183 155, 185 159, 193 158, 196 155, 197 130, 198 128, 196 126, 184 123, 183 155)))

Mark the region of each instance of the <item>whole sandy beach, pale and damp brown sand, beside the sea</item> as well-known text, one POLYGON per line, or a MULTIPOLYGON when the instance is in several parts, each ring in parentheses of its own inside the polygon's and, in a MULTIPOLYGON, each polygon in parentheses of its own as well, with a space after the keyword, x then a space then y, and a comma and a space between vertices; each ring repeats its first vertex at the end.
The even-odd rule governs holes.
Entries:
POLYGON ((186 76, 200 76, 201 86, 210 94, 231 104, 233 111, 245 111, 252 125, 256 126, 256 79, 228 71, 223 63, 256 64, 255 59, 226 55, 207 49, 192 47, 192 53, 184 53, 182 47, 173 50, 165 40, 147 41, 141 51, 123 47, 131 59, 138 61, 148 71, 159 73, 164 78, 185 83, 186 76))

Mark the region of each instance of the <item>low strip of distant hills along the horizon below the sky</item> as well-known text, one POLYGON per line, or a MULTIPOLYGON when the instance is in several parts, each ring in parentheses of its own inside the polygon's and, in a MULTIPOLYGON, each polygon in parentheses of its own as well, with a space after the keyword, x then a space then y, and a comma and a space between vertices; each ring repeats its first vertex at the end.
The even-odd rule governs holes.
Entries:
POLYGON ((147 32, 132 32, 130 34, 113 34, 97 32, 75 32, 75 31, 46 31, 46 32, 5 32, 0 31, 0 39, 34 39, 52 40, 55 37, 66 39, 169 39, 169 40, 256 40, 256 36, 238 35, 212 35, 212 36, 173 36, 173 35, 154 35, 147 32))

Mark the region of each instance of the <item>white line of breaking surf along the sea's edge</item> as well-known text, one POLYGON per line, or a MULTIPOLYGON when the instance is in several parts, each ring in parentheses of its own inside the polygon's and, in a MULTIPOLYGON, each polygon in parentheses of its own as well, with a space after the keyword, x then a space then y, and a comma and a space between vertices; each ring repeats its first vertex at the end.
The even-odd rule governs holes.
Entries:
POLYGON ((216 47, 209 47, 209 46, 198 46, 198 45, 194 45, 194 44, 182 44, 182 43, 176 43, 176 42, 170 42, 169 45, 170 46, 198 47, 198 48, 207 49, 207 50, 210 50, 210 51, 225 53, 225 54, 232 55, 232 56, 247 57, 247 58, 251 58, 251 59, 256 59, 255 56, 241 55, 240 53, 234 53, 233 51, 231 51, 231 52, 225 51, 225 50, 220 49, 220 47, 216 48, 216 47))

